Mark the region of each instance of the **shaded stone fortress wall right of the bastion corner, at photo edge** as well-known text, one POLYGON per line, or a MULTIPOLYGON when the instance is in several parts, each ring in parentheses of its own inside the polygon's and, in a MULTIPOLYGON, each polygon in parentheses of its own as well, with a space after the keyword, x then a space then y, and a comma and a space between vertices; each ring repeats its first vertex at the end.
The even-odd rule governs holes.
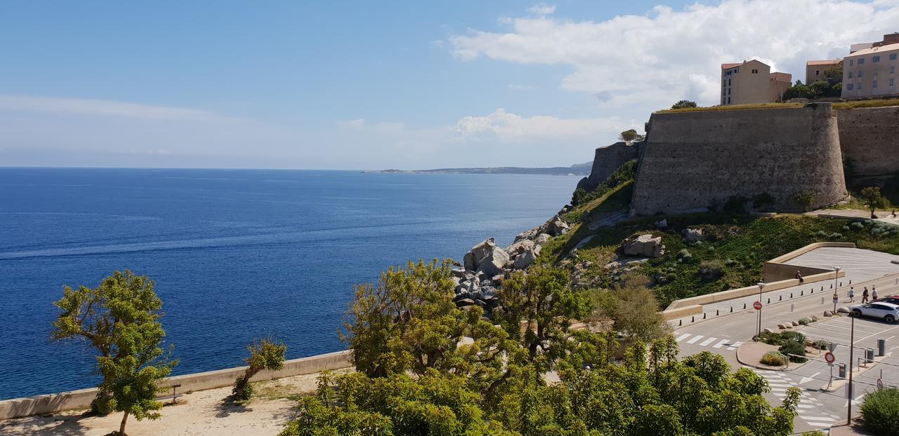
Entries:
POLYGON ((837 121, 853 176, 899 173, 899 106, 838 110, 837 121))

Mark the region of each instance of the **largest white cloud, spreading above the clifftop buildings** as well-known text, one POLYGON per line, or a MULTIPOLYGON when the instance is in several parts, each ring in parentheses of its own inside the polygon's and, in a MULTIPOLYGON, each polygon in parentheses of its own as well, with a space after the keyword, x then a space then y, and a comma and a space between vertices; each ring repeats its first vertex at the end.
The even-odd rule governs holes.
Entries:
POLYGON ((604 22, 540 15, 501 23, 510 29, 451 37, 452 53, 467 61, 567 65, 574 71, 562 89, 610 107, 645 104, 648 114, 681 98, 717 103, 725 62, 759 58, 805 80, 806 60, 841 57, 851 43, 899 30, 899 2, 725 0, 682 11, 656 6, 604 22))

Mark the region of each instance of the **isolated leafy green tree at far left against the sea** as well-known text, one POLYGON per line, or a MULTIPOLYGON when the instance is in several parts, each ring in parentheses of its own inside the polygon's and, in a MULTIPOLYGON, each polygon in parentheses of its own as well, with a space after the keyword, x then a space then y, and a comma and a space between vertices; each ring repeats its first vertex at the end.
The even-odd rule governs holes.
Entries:
POLYGON ((66 286, 53 303, 62 312, 53 322, 52 340, 79 340, 96 349, 103 379, 91 407, 100 414, 124 412, 120 435, 129 414, 138 421, 158 419, 157 383, 177 364, 159 346, 165 330, 154 286, 147 276, 116 271, 93 289, 66 286))

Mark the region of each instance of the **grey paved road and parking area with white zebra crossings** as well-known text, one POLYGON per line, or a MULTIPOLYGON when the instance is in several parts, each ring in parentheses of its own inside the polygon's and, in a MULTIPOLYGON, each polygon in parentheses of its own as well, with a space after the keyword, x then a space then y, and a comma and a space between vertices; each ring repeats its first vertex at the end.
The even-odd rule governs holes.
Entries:
MULTIPOLYGON (((845 249, 844 249, 845 250, 845 249)), ((848 249, 850 251, 830 251, 828 253, 814 250, 803 261, 829 262, 832 256, 850 254, 852 256, 843 259, 848 271, 843 278, 843 287, 839 286, 841 306, 850 305, 846 296, 849 290, 849 280, 856 286, 857 298, 860 299, 860 289, 863 286, 877 285, 881 295, 899 294, 899 266, 886 266, 892 258, 882 253, 868 250, 848 249), (860 257, 856 257, 861 255, 860 257), (866 257, 866 255, 870 255, 866 257), (865 265, 865 259, 868 265, 865 265), (850 260, 852 260, 850 262, 850 260), (890 274, 892 272, 893 274, 890 274), (884 275, 884 274, 889 275, 884 275)), ((838 264, 839 265, 839 264, 838 264)), ((832 289, 828 284, 814 283, 814 293, 811 285, 797 286, 779 292, 766 292, 762 297, 764 307, 762 309, 762 328, 768 327, 777 330, 778 324, 785 324, 803 317, 817 315, 821 321, 808 327, 797 327, 796 330, 807 337, 817 340, 822 339, 833 342, 836 345, 833 353, 837 363, 845 363, 849 367, 850 327, 852 319, 849 317, 824 318, 824 310, 832 310, 832 289), (821 290, 821 286, 824 290, 821 290), (793 292, 793 297, 789 294, 793 292), (823 301, 822 301, 823 297, 823 301), (768 299, 771 303, 768 304, 768 299)), ((752 302, 758 297, 747 297, 735 301, 725 301, 714 306, 707 306, 707 318, 697 317, 695 322, 690 318, 672 321, 674 337, 681 346, 682 355, 690 355, 702 351, 721 354, 734 368, 742 366, 736 360, 736 348, 745 342, 752 341, 752 336, 758 330, 758 313, 752 310, 752 302), (745 300, 745 301, 744 301, 745 300), (747 303, 743 310, 743 303, 747 303), (733 313, 730 307, 734 307, 733 313), (722 310, 724 309, 724 310, 722 310), (718 310, 715 315, 710 310, 718 310), (684 322, 686 321, 686 322, 684 322)), ((899 325, 888 325, 883 321, 856 318, 855 319, 855 343, 854 357, 856 362, 851 365, 853 372, 854 390, 852 397, 858 401, 868 391, 876 388, 877 379, 882 379, 886 386, 899 386, 899 325), (858 358, 864 357, 864 348, 877 348, 877 339, 886 339, 886 356, 877 358, 880 362, 862 364, 859 366, 858 358), (895 365, 895 366, 893 366, 895 365)), ((813 359, 823 359, 823 356, 810 355, 813 359)), ((779 405, 790 387, 798 387, 803 393, 800 397, 799 414, 795 423, 796 432, 807 432, 814 429, 827 429, 833 423, 844 420, 847 413, 847 389, 846 380, 831 379, 831 367, 824 362, 809 361, 805 365, 796 368, 793 364, 783 371, 764 371, 753 369, 769 381, 771 392, 766 398, 772 405, 779 405), (830 389, 822 390, 828 385, 830 389)), ((838 375, 837 367, 833 367, 833 375, 838 375)), ((856 403, 854 403, 856 404, 856 403)), ((858 414, 858 406, 853 406, 853 414, 858 414)))

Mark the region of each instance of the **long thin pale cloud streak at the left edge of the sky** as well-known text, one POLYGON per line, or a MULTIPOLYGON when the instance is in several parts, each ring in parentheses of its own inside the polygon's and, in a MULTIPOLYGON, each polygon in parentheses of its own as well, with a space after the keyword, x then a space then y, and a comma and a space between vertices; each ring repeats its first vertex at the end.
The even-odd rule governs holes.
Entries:
POLYGON ((203 120, 218 118, 207 110, 152 106, 109 100, 65 99, 28 95, 0 94, 0 110, 16 112, 51 112, 154 120, 203 120))

